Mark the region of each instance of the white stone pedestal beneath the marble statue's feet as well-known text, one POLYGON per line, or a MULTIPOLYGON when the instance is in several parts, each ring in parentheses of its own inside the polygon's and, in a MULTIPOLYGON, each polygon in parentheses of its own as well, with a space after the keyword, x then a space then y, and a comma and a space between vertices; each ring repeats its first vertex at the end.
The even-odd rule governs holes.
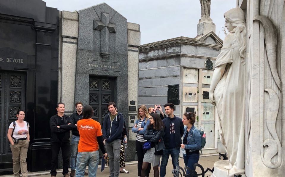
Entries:
MULTIPOLYGON (((214 172, 211 177, 233 177, 229 176, 229 170, 225 169, 224 166, 229 165, 229 160, 220 160, 215 162, 214 164, 214 172)), ((246 177, 246 175, 242 174, 242 177, 246 177)))

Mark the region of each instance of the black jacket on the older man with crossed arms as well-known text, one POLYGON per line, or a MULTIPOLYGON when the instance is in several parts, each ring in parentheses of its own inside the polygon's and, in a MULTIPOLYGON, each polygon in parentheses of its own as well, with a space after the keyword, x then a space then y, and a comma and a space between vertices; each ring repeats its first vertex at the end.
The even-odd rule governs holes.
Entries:
POLYGON ((67 115, 63 115, 63 122, 61 122, 61 117, 57 114, 53 115, 50 118, 50 130, 51 130, 51 138, 50 144, 56 143, 69 143, 70 133, 69 131, 72 130, 74 124, 72 123, 71 119, 67 115), (69 124, 70 125, 67 125, 69 124), (57 128, 59 126, 60 128, 57 128))

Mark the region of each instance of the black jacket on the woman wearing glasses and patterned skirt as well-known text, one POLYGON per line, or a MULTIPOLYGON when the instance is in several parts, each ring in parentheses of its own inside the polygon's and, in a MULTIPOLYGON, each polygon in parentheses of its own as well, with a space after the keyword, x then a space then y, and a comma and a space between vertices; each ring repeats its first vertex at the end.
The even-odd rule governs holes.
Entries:
POLYGON ((163 135, 164 135, 163 127, 161 127, 160 131, 156 131, 153 128, 146 129, 145 134, 143 135, 143 139, 155 144, 154 155, 161 155, 161 154, 156 154, 156 152, 159 152, 165 148, 164 141, 162 139, 163 135))

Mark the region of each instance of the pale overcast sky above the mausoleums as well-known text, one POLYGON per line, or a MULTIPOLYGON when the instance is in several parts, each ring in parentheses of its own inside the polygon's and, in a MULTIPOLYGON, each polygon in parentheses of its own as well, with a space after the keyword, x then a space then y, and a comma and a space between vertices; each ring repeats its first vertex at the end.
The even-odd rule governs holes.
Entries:
MULTIPOLYGON (((141 44, 185 36, 197 36, 201 16, 199 0, 44 0, 48 7, 75 11, 106 2, 128 22, 140 24, 141 44)), ((236 7, 236 0, 212 0, 211 18, 216 34, 224 39, 224 12, 236 7)))

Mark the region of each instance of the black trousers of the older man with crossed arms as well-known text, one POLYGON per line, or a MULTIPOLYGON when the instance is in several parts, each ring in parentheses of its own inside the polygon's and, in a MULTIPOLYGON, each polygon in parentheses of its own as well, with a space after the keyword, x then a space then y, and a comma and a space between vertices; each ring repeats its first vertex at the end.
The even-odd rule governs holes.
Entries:
POLYGON ((51 144, 51 165, 50 165, 50 175, 56 176, 56 167, 58 166, 58 153, 61 148, 61 154, 63 159, 63 170, 62 174, 68 173, 69 166, 69 143, 55 143, 51 144))

